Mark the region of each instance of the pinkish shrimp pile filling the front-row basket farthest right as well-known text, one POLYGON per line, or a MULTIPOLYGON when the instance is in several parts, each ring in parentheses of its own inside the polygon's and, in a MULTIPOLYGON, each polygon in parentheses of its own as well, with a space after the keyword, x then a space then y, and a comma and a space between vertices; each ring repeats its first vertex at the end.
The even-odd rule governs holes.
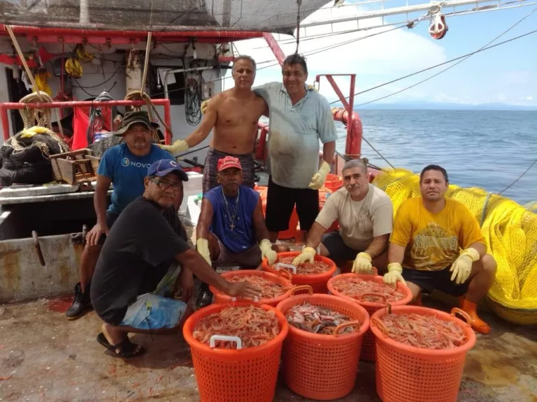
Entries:
POLYGON ((459 325, 434 315, 387 314, 381 321, 387 329, 387 336, 417 348, 453 349, 467 341, 459 325))

